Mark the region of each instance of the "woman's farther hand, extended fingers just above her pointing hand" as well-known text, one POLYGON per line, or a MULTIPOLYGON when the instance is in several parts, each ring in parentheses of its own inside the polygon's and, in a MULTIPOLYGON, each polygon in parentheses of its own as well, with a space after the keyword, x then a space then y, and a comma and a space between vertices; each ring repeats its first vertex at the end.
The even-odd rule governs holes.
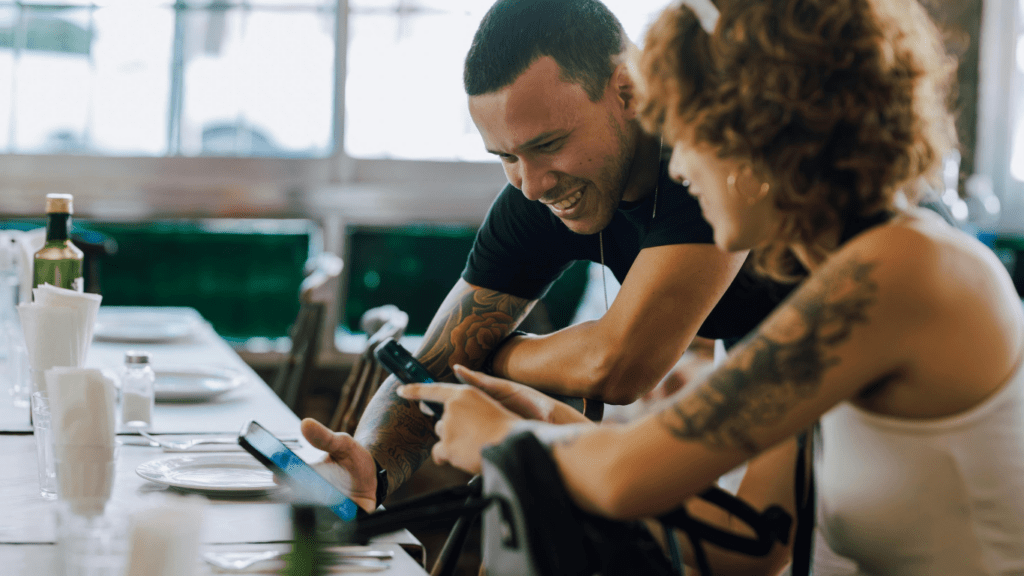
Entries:
POLYGON ((454 371, 460 382, 480 388, 499 404, 527 420, 552 424, 587 421, 587 417, 571 406, 529 386, 488 376, 461 365, 456 365, 454 371))

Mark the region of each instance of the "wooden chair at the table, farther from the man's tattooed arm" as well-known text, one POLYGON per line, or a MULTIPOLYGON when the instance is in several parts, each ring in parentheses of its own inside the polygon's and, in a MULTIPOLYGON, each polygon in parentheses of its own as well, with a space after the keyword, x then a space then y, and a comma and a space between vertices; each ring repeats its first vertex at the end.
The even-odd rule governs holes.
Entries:
POLYGON ((292 347, 270 386, 282 401, 298 413, 303 395, 322 348, 334 348, 338 324, 338 286, 343 268, 341 258, 326 252, 310 260, 299 287, 299 314, 292 325, 292 347))

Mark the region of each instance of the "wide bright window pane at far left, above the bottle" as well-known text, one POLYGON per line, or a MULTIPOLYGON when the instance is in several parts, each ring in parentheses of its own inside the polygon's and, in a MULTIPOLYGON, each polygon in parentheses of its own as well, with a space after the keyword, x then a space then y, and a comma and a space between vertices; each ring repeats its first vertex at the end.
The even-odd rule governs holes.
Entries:
POLYGON ((0 0, 0 151, 324 157, 330 0, 0 0))

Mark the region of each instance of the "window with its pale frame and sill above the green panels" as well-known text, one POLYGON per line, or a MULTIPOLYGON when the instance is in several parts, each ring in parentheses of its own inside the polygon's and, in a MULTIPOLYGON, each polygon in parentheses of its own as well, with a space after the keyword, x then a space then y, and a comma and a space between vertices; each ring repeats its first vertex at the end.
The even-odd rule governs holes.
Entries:
MULTIPOLYGON (((639 42, 667 0, 606 3, 639 42)), ((478 220, 504 176, 462 63, 489 5, 0 0, 0 213, 478 220)))

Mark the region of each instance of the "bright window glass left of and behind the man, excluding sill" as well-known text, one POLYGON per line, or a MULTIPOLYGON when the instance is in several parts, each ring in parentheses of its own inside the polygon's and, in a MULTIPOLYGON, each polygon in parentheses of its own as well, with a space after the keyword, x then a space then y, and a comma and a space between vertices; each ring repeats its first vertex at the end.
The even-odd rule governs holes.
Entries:
MULTIPOLYGON (((664 0, 610 2, 638 38, 664 0)), ((345 150, 490 160, 462 60, 488 3, 350 0, 345 150)), ((0 0, 0 152, 325 157, 332 0, 0 0)))

